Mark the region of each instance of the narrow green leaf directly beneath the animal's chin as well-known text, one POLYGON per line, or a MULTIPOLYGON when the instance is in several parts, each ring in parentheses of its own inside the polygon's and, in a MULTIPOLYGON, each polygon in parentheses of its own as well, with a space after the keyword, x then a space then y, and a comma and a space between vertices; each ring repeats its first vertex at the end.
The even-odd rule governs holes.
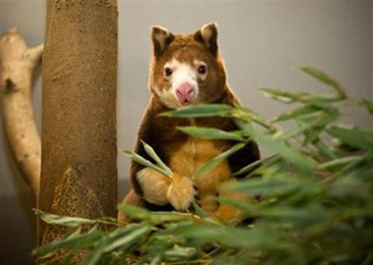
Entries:
POLYGON ((232 110, 232 106, 225 104, 201 104, 163 112, 160 114, 160 116, 184 118, 228 116, 232 110))

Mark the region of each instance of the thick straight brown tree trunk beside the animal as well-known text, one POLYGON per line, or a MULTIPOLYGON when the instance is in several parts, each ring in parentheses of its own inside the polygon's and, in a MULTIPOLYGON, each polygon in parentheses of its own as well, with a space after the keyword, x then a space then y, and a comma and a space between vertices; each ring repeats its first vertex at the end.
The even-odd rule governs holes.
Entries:
MULTIPOLYGON (((38 208, 116 217, 117 4, 48 0, 38 208)), ((39 223, 42 243, 65 230, 39 223)))

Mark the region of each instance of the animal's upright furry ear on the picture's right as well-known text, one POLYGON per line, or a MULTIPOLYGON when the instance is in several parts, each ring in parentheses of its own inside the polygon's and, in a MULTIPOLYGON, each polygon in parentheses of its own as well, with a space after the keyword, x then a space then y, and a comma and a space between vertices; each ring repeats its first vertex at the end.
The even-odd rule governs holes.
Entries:
POLYGON ((194 33, 194 39, 206 45, 214 56, 217 55, 217 32, 217 23, 210 22, 194 33))

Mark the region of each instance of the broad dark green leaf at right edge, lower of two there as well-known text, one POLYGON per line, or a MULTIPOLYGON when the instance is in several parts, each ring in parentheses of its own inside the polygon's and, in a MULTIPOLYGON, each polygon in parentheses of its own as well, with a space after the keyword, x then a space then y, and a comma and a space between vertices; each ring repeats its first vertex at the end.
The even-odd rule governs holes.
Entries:
POLYGON ((356 126, 332 126, 326 131, 349 146, 373 152, 373 131, 356 126))

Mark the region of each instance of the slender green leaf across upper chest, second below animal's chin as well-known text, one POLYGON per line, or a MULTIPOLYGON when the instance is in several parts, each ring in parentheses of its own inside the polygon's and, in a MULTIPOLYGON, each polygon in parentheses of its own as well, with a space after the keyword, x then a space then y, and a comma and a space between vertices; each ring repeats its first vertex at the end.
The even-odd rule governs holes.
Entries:
POLYGON ((204 139, 219 139, 219 140, 234 140, 234 141, 245 141, 244 138, 234 132, 227 132, 215 128, 204 128, 204 127, 177 127, 178 130, 185 132, 186 134, 193 135, 204 139))

